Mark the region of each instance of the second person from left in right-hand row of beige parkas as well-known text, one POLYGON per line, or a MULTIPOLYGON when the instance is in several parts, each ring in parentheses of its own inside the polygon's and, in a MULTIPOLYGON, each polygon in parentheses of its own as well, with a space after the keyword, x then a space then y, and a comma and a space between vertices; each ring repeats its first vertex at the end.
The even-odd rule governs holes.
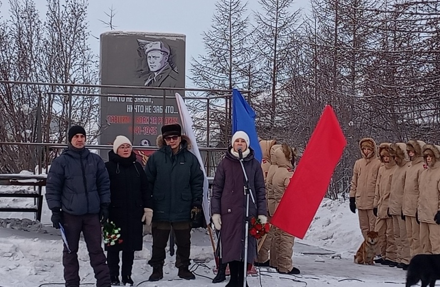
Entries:
POLYGON ((383 164, 379 168, 374 194, 374 215, 377 216, 375 231, 379 233, 379 248, 382 258, 376 263, 397 265, 396 246, 394 240, 393 219, 388 215, 388 199, 390 198, 391 176, 396 162, 390 157, 391 143, 381 143, 378 148, 379 159, 383 164))

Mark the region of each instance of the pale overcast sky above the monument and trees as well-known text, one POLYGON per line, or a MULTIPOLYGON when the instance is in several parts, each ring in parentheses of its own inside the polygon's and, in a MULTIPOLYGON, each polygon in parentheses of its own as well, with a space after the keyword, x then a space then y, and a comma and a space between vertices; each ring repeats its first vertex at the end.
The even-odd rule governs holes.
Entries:
MULTIPOLYGON (((46 1, 34 1, 44 17, 46 1)), ((1 2, 1 15, 6 16, 7 0, 1 2)), ((108 21, 104 13, 109 13, 111 6, 116 13, 113 19, 116 30, 185 34, 186 85, 194 87, 188 79, 190 60, 204 53, 201 34, 210 28, 216 0, 88 0, 88 3, 89 30, 98 38, 109 30, 99 20, 108 21)), ((298 8, 308 10, 309 0, 297 0, 292 10, 298 8)), ((258 9, 258 0, 248 0, 248 13, 258 9)), ((93 52, 99 55, 99 40, 90 37, 89 41, 93 52)))

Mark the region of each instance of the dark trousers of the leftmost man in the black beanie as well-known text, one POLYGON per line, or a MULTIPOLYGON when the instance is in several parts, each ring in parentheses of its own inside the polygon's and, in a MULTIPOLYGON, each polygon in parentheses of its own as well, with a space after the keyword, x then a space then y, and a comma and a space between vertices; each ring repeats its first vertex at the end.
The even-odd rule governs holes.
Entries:
POLYGON ((63 212, 63 227, 66 231, 66 239, 70 248, 66 245, 63 250, 64 280, 66 287, 79 287, 79 263, 78 245, 81 232, 90 257, 90 265, 93 268, 97 287, 110 286, 109 266, 106 263, 106 255, 102 250, 102 231, 98 214, 71 215, 63 212))

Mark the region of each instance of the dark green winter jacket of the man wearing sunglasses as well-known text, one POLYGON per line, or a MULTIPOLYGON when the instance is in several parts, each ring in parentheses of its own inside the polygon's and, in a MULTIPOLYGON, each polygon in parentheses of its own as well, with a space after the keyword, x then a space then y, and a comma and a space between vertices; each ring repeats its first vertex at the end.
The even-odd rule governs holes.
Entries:
POLYGON ((185 222, 191 220, 193 206, 202 204, 203 172, 191 143, 182 136, 181 148, 173 154, 162 135, 157 137, 159 150, 145 165, 149 188, 153 192, 153 222, 185 222))

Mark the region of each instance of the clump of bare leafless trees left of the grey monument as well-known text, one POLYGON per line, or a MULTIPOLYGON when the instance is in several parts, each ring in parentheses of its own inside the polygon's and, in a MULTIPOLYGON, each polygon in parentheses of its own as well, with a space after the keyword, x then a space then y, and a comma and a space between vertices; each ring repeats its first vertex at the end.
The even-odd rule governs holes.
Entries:
MULTIPOLYGON (((31 0, 10 0, 10 17, 0 23, 0 79, 22 82, 96 84, 96 58, 88 47, 87 2, 47 0, 44 21, 31 0)), ((93 141, 98 129, 98 101, 74 96, 90 88, 0 84, 2 142, 66 142, 71 124, 82 124, 93 141)), ((33 170, 36 150, 1 146, 2 171, 33 170)))

